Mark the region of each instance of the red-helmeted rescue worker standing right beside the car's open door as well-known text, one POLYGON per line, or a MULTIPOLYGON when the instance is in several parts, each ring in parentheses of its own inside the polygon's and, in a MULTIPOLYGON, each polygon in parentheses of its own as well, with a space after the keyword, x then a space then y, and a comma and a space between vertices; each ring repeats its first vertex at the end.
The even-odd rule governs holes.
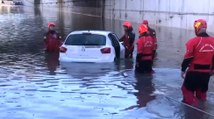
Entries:
POLYGON ((125 58, 132 58, 134 51, 135 34, 133 33, 132 25, 129 21, 123 23, 125 34, 120 38, 125 47, 125 58))

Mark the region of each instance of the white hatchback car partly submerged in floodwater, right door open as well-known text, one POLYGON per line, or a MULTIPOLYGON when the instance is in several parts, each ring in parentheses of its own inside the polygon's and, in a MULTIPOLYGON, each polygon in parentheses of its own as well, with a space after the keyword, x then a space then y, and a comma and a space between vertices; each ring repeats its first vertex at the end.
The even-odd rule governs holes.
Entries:
POLYGON ((125 48, 109 31, 74 31, 60 47, 61 62, 113 62, 125 57, 125 48))

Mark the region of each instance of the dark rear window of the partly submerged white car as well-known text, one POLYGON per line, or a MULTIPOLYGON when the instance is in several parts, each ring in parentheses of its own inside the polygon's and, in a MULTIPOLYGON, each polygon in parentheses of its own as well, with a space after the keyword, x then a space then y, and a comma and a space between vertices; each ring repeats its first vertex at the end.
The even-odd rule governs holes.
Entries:
POLYGON ((106 37, 97 34, 74 34, 65 41, 65 45, 105 45, 106 37))

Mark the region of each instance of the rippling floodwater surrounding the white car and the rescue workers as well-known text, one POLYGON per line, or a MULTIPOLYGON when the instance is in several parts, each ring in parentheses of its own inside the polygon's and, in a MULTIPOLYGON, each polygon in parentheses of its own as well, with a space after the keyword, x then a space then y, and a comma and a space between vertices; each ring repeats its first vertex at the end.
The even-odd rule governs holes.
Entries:
MULTIPOLYGON (((83 29, 123 33, 119 20, 63 9, 0 6, 1 119, 214 118, 213 80, 200 109, 181 103, 179 68, 193 31, 153 26, 159 45, 155 73, 140 75, 133 71, 134 59, 60 63, 58 54, 43 49, 49 21, 56 23, 63 38, 83 29)), ((138 23, 133 24, 137 28, 138 23)))

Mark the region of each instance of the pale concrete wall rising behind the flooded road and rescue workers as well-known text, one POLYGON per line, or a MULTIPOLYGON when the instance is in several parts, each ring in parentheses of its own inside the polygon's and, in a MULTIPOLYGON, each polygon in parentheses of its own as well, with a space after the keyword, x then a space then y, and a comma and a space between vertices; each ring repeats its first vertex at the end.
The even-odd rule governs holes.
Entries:
MULTIPOLYGON (((101 6, 104 7, 104 14, 101 9, 97 12, 99 4, 93 7, 81 6, 81 4, 76 6, 75 0, 41 0, 40 3, 42 6, 56 6, 57 2, 62 2, 64 7, 72 7, 73 11, 80 7, 77 12, 94 14, 93 10, 95 10, 96 14, 104 15, 109 19, 130 20, 137 23, 148 19, 150 24, 155 26, 193 29, 194 20, 202 18, 208 22, 208 31, 214 32, 214 0, 103 0, 101 6)), ((82 2, 89 1, 82 0, 82 2)))

